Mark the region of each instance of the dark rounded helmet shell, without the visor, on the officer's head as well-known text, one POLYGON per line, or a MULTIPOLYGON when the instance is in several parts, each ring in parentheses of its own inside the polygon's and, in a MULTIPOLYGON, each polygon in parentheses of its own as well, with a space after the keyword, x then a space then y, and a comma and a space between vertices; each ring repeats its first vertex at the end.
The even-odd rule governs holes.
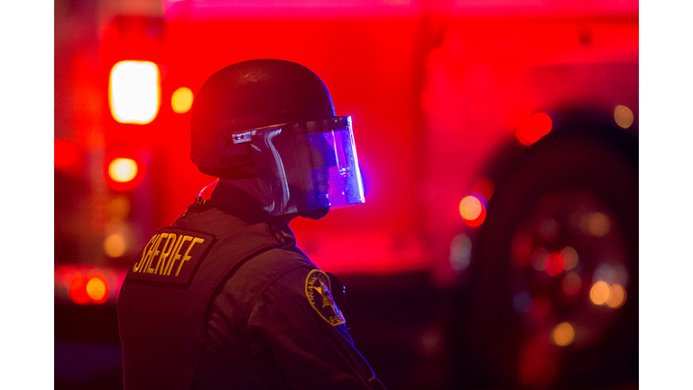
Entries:
POLYGON ((252 177, 247 144, 232 134, 335 117, 328 88, 312 70, 287 60, 247 60, 214 73, 199 89, 190 118, 190 159, 201 172, 252 177))

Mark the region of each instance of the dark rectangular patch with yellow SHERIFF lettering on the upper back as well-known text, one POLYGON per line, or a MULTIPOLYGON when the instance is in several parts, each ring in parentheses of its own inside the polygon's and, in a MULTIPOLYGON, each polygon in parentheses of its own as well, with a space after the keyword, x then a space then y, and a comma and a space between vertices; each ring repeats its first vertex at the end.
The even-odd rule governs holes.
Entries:
POLYGON ((217 237, 183 228, 157 230, 130 267, 129 280, 186 286, 217 237))

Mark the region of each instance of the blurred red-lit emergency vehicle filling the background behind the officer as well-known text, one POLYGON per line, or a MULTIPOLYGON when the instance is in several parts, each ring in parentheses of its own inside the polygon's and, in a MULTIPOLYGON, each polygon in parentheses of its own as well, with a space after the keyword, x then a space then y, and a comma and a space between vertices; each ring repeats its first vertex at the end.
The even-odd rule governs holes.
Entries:
POLYGON ((57 2, 57 387, 118 381, 125 269, 212 181, 195 93, 258 57, 354 116, 366 204, 292 228, 383 382, 636 385, 638 4, 568 3, 57 2))

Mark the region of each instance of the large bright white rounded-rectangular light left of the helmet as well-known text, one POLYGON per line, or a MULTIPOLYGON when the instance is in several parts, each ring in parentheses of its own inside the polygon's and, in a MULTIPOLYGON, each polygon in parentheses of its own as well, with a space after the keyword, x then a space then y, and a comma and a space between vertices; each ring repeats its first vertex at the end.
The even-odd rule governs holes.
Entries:
POLYGON ((116 121, 146 125, 159 113, 160 100, 159 67, 155 63, 124 60, 113 66, 108 103, 116 121))

